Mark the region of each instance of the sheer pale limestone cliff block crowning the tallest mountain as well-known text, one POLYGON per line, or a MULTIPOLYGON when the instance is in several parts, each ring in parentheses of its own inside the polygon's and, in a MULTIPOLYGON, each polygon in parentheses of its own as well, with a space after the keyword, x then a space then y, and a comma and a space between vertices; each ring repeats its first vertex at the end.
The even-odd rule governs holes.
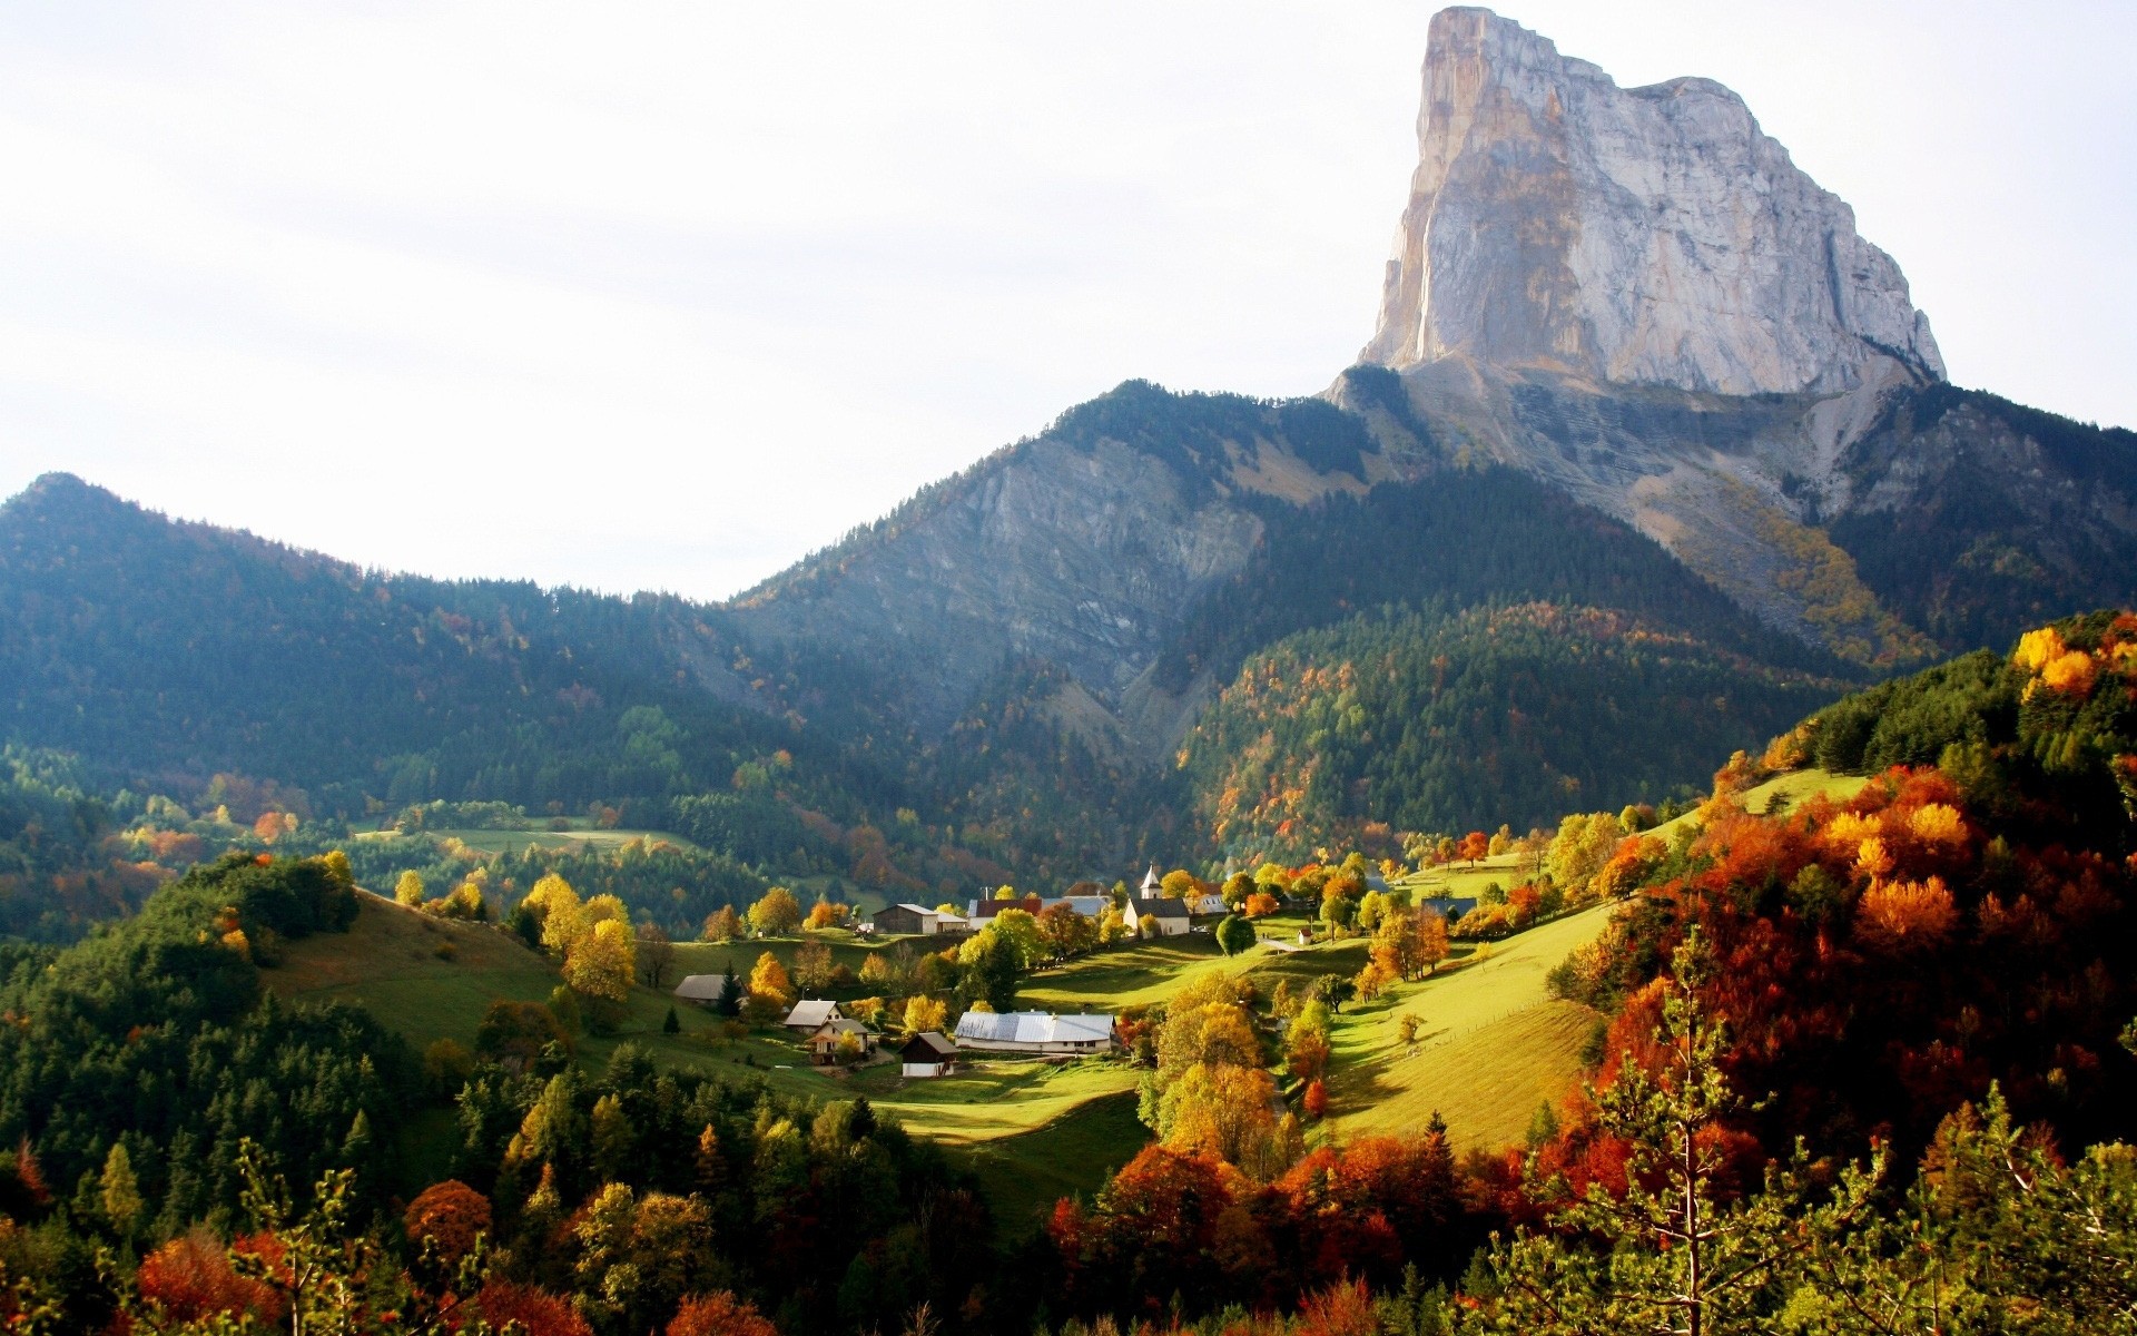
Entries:
POLYGON ((1618 88, 1487 9, 1434 15, 1419 162, 1361 361, 1712 393, 1943 380, 1855 212, 1712 79, 1618 88))

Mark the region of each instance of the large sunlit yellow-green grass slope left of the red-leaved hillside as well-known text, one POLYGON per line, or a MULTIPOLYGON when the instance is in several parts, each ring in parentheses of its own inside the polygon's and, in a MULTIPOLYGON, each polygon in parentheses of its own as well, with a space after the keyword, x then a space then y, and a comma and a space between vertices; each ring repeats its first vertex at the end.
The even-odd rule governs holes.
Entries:
POLYGON ((1554 1003, 1543 977, 1607 921, 1609 906, 1594 906, 1543 923, 1338 1015, 1329 1131, 1415 1133, 1438 1109, 1460 1148, 1517 1141, 1537 1105, 1579 1079, 1594 1024, 1586 1007, 1554 1003), (1421 1022, 1408 1050, 1398 1030, 1404 1013, 1421 1022))

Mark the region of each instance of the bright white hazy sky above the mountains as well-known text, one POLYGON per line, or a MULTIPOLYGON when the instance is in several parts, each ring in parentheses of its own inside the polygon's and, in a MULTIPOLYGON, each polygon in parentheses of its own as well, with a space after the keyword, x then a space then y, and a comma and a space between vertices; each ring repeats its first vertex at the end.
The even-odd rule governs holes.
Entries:
MULTIPOLYGON (((1957 383, 2137 425, 2137 4, 1500 11, 1729 83, 1957 383)), ((0 4, 0 496, 724 596, 1128 376, 1325 387, 1430 13, 0 4)))

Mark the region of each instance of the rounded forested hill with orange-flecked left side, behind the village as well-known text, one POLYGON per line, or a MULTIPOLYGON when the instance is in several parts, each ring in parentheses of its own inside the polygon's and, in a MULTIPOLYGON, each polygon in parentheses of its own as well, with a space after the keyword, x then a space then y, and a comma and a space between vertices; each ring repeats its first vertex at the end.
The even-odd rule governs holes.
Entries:
POLYGON ((1836 690, 1624 611, 1368 613, 1248 658, 1184 748, 1235 853, 1551 825, 1678 795, 1836 690))

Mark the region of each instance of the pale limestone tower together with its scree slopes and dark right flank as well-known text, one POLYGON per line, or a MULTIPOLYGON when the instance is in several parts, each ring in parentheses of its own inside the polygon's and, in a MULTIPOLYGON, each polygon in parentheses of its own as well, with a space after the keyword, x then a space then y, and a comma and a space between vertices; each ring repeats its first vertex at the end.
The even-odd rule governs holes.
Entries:
POLYGON ((1432 21, 1361 359, 1870 669, 2137 579, 2137 436, 1951 387, 1900 267, 1727 88, 1618 88, 1489 11, 1432 21))

